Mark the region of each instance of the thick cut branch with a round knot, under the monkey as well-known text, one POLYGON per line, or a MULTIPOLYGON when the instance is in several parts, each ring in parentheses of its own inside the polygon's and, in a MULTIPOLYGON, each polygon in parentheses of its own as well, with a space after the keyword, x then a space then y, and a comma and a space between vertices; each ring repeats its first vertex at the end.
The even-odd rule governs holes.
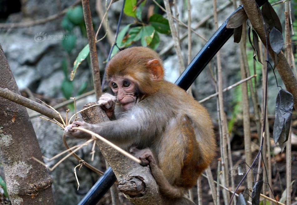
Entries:
MULTIPOLYGON (((88 103, 85 107, 89 107, 93 104, 95 103, 88 103)), ((83 111, 82 117, 84 121, 92 124, 109 120, 105 112, 99 106, 94 106, 83 111)), ((98 141, 97 145, 112 167, 118 179, 119 189, 129 201, 136 205, 194 204, 186 198, 169 200, 163 197, 159 193, 158 184, 150 173, 149 167, 143 167, 137 164, 101 141, 98 141)))

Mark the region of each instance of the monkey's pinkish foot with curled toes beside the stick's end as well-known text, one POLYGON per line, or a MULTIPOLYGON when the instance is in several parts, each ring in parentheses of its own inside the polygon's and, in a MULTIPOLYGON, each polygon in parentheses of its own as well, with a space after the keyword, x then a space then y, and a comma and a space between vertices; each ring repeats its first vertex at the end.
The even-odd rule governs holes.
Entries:
POLYGON ((130 153, 141 160, 142 166, 157 164, 157 161, 150 149, 139 150, 136 147, 131 147, 130 153))

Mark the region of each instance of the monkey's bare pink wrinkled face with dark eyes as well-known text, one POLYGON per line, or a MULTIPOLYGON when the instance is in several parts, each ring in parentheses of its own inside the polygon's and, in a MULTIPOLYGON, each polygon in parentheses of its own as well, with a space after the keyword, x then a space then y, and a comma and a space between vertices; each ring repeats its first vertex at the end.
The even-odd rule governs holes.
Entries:
POLYGON ((112 89, 117 101, 124 110, 128 110, 137 101, 137 85, 133 79, 128 77, 113 77, 109 86, 112 89))

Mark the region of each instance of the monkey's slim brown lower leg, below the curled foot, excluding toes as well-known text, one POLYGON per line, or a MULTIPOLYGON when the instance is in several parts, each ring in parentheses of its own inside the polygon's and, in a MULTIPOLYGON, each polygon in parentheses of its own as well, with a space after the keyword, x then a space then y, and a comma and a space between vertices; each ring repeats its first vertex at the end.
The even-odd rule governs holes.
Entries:
POLYGON ((168 198, 181 198, 184 196, 186 189, 169 184, 162 170, 157 165, 150 163, 150 169, 157 184, 159 185, 159 191, 163 196, 168 198))

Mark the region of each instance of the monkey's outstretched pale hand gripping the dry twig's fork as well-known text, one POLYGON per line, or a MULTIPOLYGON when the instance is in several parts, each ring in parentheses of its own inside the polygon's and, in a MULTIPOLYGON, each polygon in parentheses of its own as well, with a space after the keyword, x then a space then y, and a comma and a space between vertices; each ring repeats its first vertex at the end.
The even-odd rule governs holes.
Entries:
POLYGON ((73 130, 72 129, 73 127, 81 127, 81 128, 85 128, 87 130, 91 130, 92 125, 87 122, 75 121, 72 124, 65 127, 64 134, 68 135, 68 136, 80 138, 80 139, 82 139, 82 138, 86 139, 86 138, 91 137, 91 135, 89 135, 88 133, 85 133, 81 130, 73 130))

